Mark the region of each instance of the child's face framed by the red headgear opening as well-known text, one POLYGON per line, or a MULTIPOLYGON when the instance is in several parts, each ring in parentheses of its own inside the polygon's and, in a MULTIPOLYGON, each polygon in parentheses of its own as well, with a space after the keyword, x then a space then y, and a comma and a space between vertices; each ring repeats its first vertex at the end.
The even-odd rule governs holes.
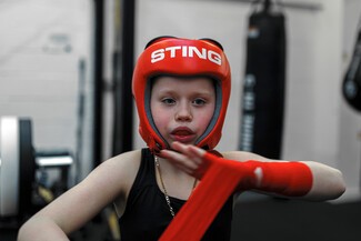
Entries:
POLYGON ((151 113, 168 143, 194 144, 205 131, 214 107, 214 87, 208 78, 160 77, 154 80, 151 113))

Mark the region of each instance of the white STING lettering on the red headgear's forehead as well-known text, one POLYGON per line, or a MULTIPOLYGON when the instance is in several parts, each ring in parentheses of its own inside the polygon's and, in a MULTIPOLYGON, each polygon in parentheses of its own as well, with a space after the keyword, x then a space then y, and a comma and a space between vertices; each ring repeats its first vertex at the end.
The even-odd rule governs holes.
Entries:
POLYGON ((158 49, 151 53, 151 63, 161 61, 168 58, 176 58, 177 56, 188 57, 188 58, 199 58, 209 60, 218 66, 222 64, 221 54, 213 50, 208 50, 205 48, 198 49, 194 46, 173 46, 166 49, 158 49), (180 51, 179 51, 180 50, 180 51))

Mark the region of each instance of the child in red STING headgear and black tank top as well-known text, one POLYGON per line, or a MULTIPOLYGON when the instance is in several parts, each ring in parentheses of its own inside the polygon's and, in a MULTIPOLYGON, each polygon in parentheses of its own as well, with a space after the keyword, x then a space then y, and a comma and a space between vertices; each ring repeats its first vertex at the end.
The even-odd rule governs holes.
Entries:
MULTIPOLYGON (((139 132, 148 148, 104 161, 24 223, 19 240, 68 240, 67 234, 112 202, 122 241, 158 240, 209 170, 212 158, 207 157, 215 152, 221 138, 230 76, 222 47, 213 40, 162 37, 151 41, 138 59, 132 80, 139 132)), ((218 155, 225 163, 275 162, 240 151, 218 155)), ((339 170, 311 161, 297 163, 302 168, 283 161, 291 168, 282 170, 290 171, 273 165, 263 172, 254 169, 254 177, 240 179, 233 193, 254 189, 322 201, 344 192, 339 170), (265 179, 271 172, 277 174, 265 179), (293 177, 301 181, 284 181, 293 177), (280 184, 288 191, 280 190, 280 184)), ((202 240, 230 240, 232 195, 227 198, 202 240)))

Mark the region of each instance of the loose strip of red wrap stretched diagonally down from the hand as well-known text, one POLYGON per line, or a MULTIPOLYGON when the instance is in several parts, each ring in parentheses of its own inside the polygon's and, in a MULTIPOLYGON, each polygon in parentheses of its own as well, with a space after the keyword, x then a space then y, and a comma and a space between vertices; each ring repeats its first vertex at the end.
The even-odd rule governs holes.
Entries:
MULTIPOLYGON (((211 154, 210 154, 211 155, 211 154)), ((204 160, 210 161, 210 160, 204 160)), ((223 164, 224 160, 207 164, 205 173, 192 195, 179 210, 160 241, 198 241, 215 218, 241 179, 239 170, 223 164)))

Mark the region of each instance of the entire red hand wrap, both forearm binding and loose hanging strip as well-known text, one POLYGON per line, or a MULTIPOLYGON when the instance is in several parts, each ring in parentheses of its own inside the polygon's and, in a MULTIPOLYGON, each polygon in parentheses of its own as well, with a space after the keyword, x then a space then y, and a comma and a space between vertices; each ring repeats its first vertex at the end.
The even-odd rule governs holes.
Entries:
POLYGON ((312 172, 301 162, 238 162, 204 155, 207 170, 201 183, 167 228, 160 241, 200 240, 225 200, 241 188, 289 197, 307 194, 312 172))

